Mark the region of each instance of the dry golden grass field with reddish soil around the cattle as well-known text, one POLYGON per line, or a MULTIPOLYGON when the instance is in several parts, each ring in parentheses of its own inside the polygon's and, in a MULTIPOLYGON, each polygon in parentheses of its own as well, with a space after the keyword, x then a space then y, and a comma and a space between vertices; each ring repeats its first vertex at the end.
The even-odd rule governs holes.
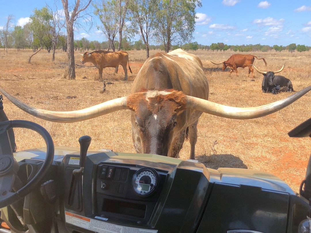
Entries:
MULTIPOLYGON (((106 82, 113 84, 102 90, 95 67, 76 67, 76 80, 66 77, 67 54, 57 51, 56 60, 52 54, 40 51, 28 64, 31 51, 0 51, 0 86, 16 98, 32 106, 54 110, 71 111, 130 94, 132 82, 145 61, 145 51, 129 51, 130 66, 128 81, 123 81, 124 72, 119 67, 105 68, 106 82)), ((154 54, 158 51, 151 51, 154 54)), ((191 52, 191 51, 189 51, 191 52)), ((229 76, 229 69, 222 71, 216 63, 225 61, 233 51, 194 52, 203 63, 210 84, 209 100, 235 107, 253 107, 277 101, 290 95, 262 93, 262 74, 255 72, 255 78, 248 78, 248 69, 238 68, 239 76, 229 76), (252 81, 253 79, 253 81, 252 81)), ((258 58, 254 65, 261 70, 278 70, 286 62, 280 73, 293 83, 295 91, 311 85, 311 52, 254 52, 258 58)), ((76 64, 80 55, 76 52, 76 64)), ((91 66, 91 64, 86 64, 91 66)), ((39 123, 52 135, 55 145, 78 146, 82 135, 92 137, 90 149, 107 148, 120 152, 135 152, 132 144, 130 111, 114 112, 95 119, 76 123, 55 123, 32 117, 4 98, 4 108, 9 119, 24 119, 39 123)), ((295 191, 304 178, 311 152, 310 138, 290 138, 287 132, 311 117, 311 93, 279 112, 253 120, 232 120, 203 113, 198 123, 196 159, 207 167, 248 168, 270 172, 290 185, 295 191), (217 141, 216 141, 217 140, 217 141)), ((44 146, 40 136, 28 130, 17 129, 17 149, 44 146)), ((189 158, 190 145, 185 141, 180 152, 181 159, 189 158)))

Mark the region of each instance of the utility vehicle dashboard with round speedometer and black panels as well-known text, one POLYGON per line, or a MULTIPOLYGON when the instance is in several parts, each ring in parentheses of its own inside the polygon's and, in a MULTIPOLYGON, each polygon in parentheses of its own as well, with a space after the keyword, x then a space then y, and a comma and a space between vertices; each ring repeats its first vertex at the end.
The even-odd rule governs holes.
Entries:
MULTIPOLYGON (((57 181, 57 218, 66 226, 60 232, 295 232, 307 210, 269 173, 100 150, 88 151, 83 173, 73 175, 78 150, 56 147, 47 178, 57 181)), ((16 156, 29 163, 41 152, 16 156)))

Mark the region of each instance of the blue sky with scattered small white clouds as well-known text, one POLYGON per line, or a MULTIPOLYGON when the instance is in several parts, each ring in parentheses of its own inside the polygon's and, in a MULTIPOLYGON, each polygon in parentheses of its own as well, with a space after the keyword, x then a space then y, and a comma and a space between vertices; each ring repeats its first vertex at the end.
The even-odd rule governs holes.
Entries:
MULTIPOLYGON (((35 8, 46 4, 55 9, 53 0, 2 1, 0 29, 9 14, 14 15, 15 25, 23 26, 35 8)), ((62 9, 60 0, 57 5, 62 9)), ((223 42, 227 45, 296 43, 311 46, 310 0, 203 0, 202 7, 197 8, 197 17, 193 41, 202 45, 223 42)), ((94 20, 93 28, 90 31, 80 29, 75 39, 107 40, 96 27, 99 20, 96 17, 94 20)), ((136 36, 132 40, 138 39, 136 36)))

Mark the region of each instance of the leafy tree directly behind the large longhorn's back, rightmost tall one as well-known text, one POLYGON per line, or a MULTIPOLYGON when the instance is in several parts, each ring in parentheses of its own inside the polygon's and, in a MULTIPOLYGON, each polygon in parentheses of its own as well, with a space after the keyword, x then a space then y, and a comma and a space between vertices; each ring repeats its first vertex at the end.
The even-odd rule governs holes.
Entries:
POLYGON ((172 45, 184 44, 193 39, 196 8, 201 0, 159 0, 154 22, 156 40, 169 52, 172 45))

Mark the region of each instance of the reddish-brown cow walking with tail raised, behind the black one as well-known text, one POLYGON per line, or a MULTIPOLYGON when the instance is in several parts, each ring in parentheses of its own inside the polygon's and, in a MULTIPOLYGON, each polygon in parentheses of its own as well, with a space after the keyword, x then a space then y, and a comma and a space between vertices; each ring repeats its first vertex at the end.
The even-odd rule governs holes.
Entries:
MULTIPOLYGON (((255 58, 257 58, 258 60, 263 60, 263 62, 265 63, 265 65, 267 66, 267 62, 264 58, 258 58, 254 55, 251 54, 234 54, 232 56, 230 56, 230 58, 224 62, 220 62, 220 63, 214 63, 212 61, 210 61, 211 63, 215 64, 215 65, 220 65, 222 64, 222 70, 225 70, 228 67, 230 67, 230 74, 232 73, 232 71, 234 70, 236 73, 236 76, 238 76, 238 69, 239 67, 241 68, 245 68, 246 66, 248 67, 248 75, 247 77, 249 77, 249 74, 252 72, 253 74, 253 78, 255 77, 254 75, 254 70, 253 67, 251 66, 255 60, 255 58)), ((229 74, 229 75, 230 75, 229 74)))

